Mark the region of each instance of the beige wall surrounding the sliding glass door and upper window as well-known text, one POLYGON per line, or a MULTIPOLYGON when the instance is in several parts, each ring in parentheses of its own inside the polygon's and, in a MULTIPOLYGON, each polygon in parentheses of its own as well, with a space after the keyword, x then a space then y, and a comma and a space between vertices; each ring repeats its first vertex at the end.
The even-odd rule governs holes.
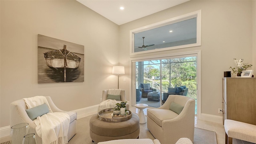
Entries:
MULTIPOLYGON (((204 115, 221 117, 218 108, 222 108, 222 77, 224 71, 234 67, 233 58, 244 58, 244 62, 253 63, 252 14, 253 1, 209 1, 192 0, 161 12, 120 25, 120 63, 129 67, 129 32, 152 23, 202 10, 202 45, 185 49, 142 54, 178 53, 201 50, 201 112, 204 115)), ((255 19, 254 19, 255 21, 255 19)), ((254 47, 255 49, 255 47, 254 47)), ((255 68, 255 67, 254 67, 255 68)), ((255 69, 254 69, 255 70, 255 69)), ((130 88, 125 84, 125 89, 130 88)), ((128 95, 128 93, 126 93, 128 95)), ((130 99, 131 101, 131 99, 130 99)))

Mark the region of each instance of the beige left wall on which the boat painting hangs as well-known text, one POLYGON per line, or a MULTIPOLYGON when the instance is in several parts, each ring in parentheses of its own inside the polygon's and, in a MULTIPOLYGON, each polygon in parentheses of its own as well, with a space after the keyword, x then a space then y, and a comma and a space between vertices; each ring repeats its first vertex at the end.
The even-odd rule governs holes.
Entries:
POLYGON ((100 103, 117 88, 118 25, 75 0, 0 1, 0 128, 9 126, 12 101, 51 96, 62 110, 100 103), (84 82, 37 83, 37 35, 84 45, 84 82))

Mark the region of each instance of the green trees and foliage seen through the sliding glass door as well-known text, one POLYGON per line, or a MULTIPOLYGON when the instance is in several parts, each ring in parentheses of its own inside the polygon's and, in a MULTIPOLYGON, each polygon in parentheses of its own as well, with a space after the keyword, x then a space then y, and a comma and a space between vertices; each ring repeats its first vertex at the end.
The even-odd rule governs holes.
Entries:
MULTIPOLYGON (((144 65, 144 83, 160 91, 160 61, 148 62, 150 65, 144 65)), ((196 57, 162 60, 162 92, 175 86, 186 86, 187 96, 196 99, 196 57)))

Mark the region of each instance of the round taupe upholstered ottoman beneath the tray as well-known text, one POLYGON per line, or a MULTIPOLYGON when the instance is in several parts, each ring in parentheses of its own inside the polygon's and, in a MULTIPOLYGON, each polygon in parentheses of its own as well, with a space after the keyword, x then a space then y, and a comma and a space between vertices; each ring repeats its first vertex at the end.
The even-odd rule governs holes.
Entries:
POLYGON ((104 142, 108 140, 139 138, 140 119, 132 113, 132 118, 120 123, 108 123, 98 119, 95 114, 90 119, 90 136, 92 142, 104 142))

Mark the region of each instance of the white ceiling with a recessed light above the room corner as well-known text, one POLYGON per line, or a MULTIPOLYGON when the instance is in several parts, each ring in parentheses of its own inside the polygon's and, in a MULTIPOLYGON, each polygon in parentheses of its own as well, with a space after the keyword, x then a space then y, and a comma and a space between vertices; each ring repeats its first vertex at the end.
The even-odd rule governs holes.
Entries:
POLYGON ((128 23, 189 0, 77 0, 118 25, 128 23), (124 7, 124 10, 120 10, 124 7))

